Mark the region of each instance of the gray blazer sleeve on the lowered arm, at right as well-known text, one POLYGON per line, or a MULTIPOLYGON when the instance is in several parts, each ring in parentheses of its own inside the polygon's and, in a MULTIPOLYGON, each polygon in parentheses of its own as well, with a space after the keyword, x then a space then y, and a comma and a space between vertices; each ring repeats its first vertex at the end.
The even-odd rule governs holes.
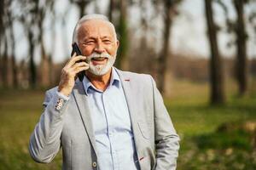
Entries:
POLYGON ((154 139, 156 150, 155 170, 175 170, 179 149, 179 137, 166 110, 153 77, 154 94, 154 139))

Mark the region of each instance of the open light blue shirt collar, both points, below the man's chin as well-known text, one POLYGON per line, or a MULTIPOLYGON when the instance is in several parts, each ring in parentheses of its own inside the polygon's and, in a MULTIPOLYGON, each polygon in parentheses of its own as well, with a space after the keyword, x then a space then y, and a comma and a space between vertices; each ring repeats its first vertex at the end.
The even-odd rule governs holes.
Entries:
MULTIPOLYGON (((112 67, 111 69, 112 69, 112 71, 111 71, 110 83, 108 85, 108 88, 110 88, 111 86, 116 86, 117 88, 120 88, 119 75, 114 67, 112 67)), ((84 85, 84 91, 85 91, 86 95, 89 93, 90 89, 97 91, 97 92, 102 92, 101 90, 98 90, 86 76, 84 76, 83 85, 84 85)))

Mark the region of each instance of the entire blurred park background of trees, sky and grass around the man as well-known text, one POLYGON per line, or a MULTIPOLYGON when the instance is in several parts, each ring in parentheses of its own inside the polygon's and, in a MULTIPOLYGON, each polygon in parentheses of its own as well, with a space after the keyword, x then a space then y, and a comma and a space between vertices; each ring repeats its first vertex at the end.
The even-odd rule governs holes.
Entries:
POLYGON ((60 169, 27 145, 84 14, 105 14, 115 66, 151 74, 181 137, 177 169, 256 169, 255 0, 0 0, 0 169, 60 169))

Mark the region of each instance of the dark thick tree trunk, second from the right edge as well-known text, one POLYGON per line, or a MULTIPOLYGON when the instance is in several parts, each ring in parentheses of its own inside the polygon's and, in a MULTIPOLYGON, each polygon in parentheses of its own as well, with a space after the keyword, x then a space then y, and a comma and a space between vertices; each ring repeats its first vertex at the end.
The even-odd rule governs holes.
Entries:
POLYGON ((208 39, 211 48, 210 79, 211 79, 211 103, 224 103, 224 77, 222 59, 218 54, 217 29, 213 20, 212 0, 205 0, 208 39))

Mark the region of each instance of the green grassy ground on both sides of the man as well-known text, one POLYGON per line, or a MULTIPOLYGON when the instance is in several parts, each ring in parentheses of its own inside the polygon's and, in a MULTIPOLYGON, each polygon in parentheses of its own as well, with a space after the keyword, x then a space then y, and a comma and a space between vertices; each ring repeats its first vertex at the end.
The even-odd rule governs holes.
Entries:
MULTIPOLYGON (((225 122, 256 122, 256 83, 251 84, 243 98, 236 96, 236 87, 227 86, 227 104, 213 107, 208 105, 207 84, 173 83, 172 98, 165 101, 182 139, 177 169, 256 169, 247 165, 256 162, 255 149, 236 150, 232 145, 233 140, 244 136, 225 140, 230 139, 229 133, 216 132, 225 122), (224 148, 215 146, 219 141, 224 141, 224 148)), ((40 90, 0 90, 0 170, 61 169, 60 155, 52 163, 42 165, 32 161, 28 154, 28 139, 38 122, 43 99, 44 92, 40 90)))

